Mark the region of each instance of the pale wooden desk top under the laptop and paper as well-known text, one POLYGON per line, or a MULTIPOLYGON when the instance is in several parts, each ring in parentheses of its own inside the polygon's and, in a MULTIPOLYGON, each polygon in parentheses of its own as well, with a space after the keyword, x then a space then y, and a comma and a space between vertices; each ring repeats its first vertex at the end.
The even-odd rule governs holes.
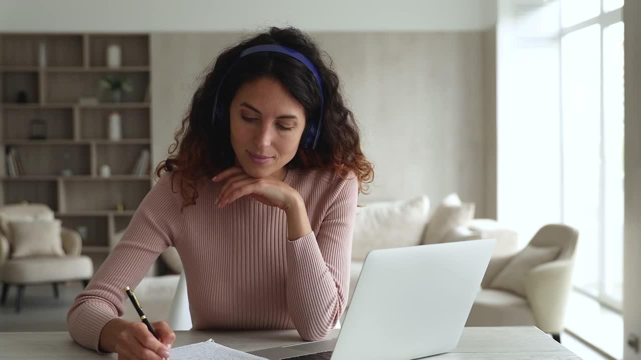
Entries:
MULTIPOLYGON (((331 332, 335 337, 338 330, 331 332)), ((300 343, 296 330, 177 331, 174 347, 212 338, 242 351, 300 343)), ((87 350, 68 332, 0 332, 0 358, 12 360, 116 359, 87 350)), ((453 352, 429 359, 580 359, 536 327, 468 327, 453 352)))

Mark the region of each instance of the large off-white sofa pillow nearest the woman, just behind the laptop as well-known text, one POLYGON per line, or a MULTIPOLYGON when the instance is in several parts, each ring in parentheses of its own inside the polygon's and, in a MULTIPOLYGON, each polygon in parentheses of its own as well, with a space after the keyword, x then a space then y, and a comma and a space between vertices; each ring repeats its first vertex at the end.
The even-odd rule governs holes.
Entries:
POLYGON ((363 260, 375 249, 420 245, 428 215, 427 196, 356 208, 352 259, 363 260))

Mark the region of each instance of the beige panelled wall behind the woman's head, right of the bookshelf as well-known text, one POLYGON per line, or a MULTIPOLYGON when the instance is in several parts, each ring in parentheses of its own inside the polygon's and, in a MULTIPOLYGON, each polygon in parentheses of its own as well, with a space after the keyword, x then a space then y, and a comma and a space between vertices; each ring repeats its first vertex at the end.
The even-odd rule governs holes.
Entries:
MULTIPOLYGON (((167 154, 197 74, 238 35, 153 33, 154 163, 167 154)), ((494 68, 487 63, 493 61, 487 52, 494 53, 488 32, 312 36, 335 61, 361 124, 363 151, 375 165, 371 194, 362 202, 426 193, 436 204, 458 192, 486 216, 493 201, 487 172, 494 171, 485 165, 488 154, 494 156, 486 137, 492 110, 485 102, 494 102, 486 92, 487 81, 494 81, 485 76, 494 68)))

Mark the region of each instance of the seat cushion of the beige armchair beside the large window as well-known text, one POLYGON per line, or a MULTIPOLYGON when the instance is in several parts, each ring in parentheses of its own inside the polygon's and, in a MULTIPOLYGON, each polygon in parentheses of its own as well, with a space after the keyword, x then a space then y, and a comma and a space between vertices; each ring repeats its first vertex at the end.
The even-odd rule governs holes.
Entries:
POLYGON ((535 325, 534 315, 523 297, 507 291, 481 290, 465 326, 535 325))

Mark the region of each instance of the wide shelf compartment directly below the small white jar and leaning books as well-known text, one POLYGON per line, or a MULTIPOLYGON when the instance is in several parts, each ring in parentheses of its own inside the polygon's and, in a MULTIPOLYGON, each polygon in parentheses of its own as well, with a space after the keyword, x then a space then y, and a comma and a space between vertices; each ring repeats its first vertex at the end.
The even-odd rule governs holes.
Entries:
POLYGON ((113 211, 117 204, 134 210, 151 189, 151 181, 69 181, 65 183, 67 213, 113 211))

